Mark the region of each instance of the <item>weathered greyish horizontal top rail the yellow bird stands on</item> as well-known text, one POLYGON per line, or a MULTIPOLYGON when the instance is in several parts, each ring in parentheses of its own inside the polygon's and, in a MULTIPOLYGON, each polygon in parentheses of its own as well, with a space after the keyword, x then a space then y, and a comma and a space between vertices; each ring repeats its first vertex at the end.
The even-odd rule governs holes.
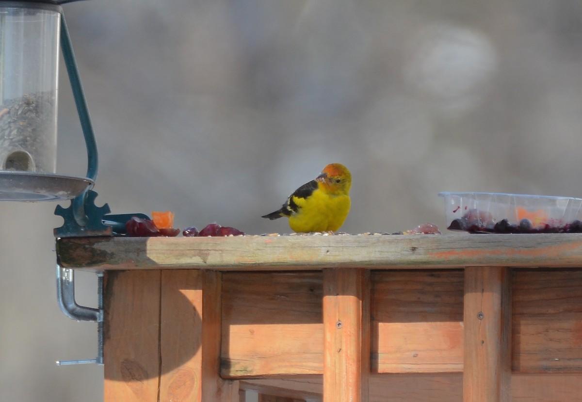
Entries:
POLYGON ((58 239, 61 266, 221 271, 575 267, 582 234, 84 237, 58 239))

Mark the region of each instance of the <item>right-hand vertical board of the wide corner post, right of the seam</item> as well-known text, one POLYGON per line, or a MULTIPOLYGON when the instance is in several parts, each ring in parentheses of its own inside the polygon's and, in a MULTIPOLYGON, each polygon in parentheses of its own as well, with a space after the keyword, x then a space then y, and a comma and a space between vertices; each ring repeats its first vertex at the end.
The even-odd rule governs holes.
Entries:
POLYGON ((219 376, 221 276, 162 271, 161 401, 239 401, 238 381, 219 376))

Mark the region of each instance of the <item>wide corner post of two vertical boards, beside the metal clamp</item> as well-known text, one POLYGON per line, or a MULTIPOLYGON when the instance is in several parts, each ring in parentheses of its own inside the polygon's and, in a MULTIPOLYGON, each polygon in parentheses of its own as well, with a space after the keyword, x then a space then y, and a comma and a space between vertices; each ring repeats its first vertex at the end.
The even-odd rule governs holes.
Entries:
POLYGON ((219 377, 221 273, 108 273, 105 401, 239 401, 219 377), (202 325, 204 322, 204 325, 202 325))

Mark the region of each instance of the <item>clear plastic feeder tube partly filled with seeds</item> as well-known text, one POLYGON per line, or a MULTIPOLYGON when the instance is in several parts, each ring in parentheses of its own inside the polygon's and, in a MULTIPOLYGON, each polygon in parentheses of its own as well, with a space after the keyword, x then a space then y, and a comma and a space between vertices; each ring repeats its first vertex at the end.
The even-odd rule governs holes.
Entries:
POLYGON ((0 1, 0 172, 56 172, 61 7, 0 1))

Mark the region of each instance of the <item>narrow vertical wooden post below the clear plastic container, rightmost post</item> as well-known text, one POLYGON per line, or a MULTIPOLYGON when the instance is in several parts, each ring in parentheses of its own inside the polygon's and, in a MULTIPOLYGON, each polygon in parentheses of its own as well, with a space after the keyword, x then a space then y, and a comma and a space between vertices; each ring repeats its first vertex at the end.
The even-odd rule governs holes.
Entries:
POLYGON ((465 268, 464 402, 511 401, 509 268, 465 268))

